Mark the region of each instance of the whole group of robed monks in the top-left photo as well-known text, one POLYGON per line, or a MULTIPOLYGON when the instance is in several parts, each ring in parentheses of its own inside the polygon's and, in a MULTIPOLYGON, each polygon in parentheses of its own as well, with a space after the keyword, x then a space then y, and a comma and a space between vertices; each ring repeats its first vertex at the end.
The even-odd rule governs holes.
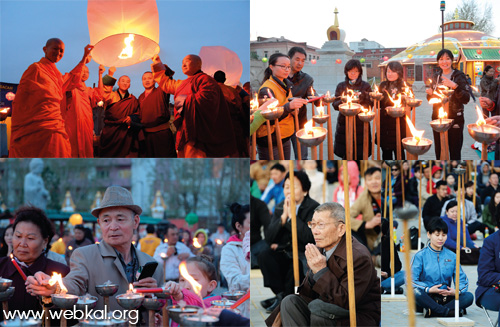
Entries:
POLYGON ((201 58, 190 54, 182 61, 187 78, 174 80, 156 55, 136 98, 127 75, 113 76, 115 67, 102 76, 100 65, 98 86, 86 86, 92 49, 87 45, 78 65, 62 75, 56 63, 64 43, 47 41, 45 56, 21 77, 12 110, 0 117, 12 116, 9 157, 248 157, 249 94, 224 85, 223 71, 208 76, 201 58))

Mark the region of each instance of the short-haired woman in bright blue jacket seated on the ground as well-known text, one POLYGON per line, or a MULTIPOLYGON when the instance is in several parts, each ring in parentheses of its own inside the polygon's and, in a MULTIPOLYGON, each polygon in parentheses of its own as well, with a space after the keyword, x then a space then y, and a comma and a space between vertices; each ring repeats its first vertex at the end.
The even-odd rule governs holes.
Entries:
MULTIPOLYGON (((448 234, 448 226, 438 217, 433 218, 427 226, 429 245, 418 251, 411 263, 412 286, 415 292, 417 308, 424 310, 424 317, 454 317, 455 290, 453 280, 457 281, 456 255, 443 247, 448 234)), ((472 293, 467 292, 469 281, 462 267, 459 278, 460 315, 474 301, 472 293)), ((408 285, 407 281, 407 287, 408 285)))

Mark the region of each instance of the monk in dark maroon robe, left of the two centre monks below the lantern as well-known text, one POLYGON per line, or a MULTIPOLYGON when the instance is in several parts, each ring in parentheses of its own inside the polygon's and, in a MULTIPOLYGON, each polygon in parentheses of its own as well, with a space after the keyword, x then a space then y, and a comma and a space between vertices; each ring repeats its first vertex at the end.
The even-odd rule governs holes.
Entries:
MULTIPOLYGON (((105 158, 136 158, 139 153, 139 102, 128 92, 130 77, 118 79, 118 90, 113 77, 116 68, 111 67, 103 77, 105 111, 101 132, 99 155, 105 158)), ((142 133, 141 133, 142 135, 142 133)))

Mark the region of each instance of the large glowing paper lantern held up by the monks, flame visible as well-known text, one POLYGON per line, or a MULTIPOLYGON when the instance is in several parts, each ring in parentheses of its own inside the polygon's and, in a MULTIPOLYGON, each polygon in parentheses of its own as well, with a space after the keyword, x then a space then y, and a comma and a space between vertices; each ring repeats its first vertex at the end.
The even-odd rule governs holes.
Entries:
POLYGON ((92 58, 104 66, 134 65, 160 52, 158 9, 154 0, 88 0, 92 58))

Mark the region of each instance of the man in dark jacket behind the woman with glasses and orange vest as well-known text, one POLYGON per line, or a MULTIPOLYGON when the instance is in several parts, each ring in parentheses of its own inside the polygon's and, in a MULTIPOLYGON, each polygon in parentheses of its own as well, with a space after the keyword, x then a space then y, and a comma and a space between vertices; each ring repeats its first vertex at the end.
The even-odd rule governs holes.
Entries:
MULTIPOLYGON (((313 87, 314 79, 304 73, 302 68, 304 68, 304 63, 307 58, 306 51, 301 47, 293 47, 288 51, 288 57, 290 57, 290 75, 288 79, 293 83, 291 88, 292 95, 294 98, 307 99, 311 94, 311 88, 313 87)), ((299 128, 303 129, 304 125, 307 123, 307 106, 303 105, 299 109, 299 128)), ((295 159, 298 160, 299 156, 297 153, 297 138, 295 133, 291 137, 293 152, 295 153, 295 159)), ((307 159, 307 146, 304 144, 300 145, 301 159, 307 159)))

